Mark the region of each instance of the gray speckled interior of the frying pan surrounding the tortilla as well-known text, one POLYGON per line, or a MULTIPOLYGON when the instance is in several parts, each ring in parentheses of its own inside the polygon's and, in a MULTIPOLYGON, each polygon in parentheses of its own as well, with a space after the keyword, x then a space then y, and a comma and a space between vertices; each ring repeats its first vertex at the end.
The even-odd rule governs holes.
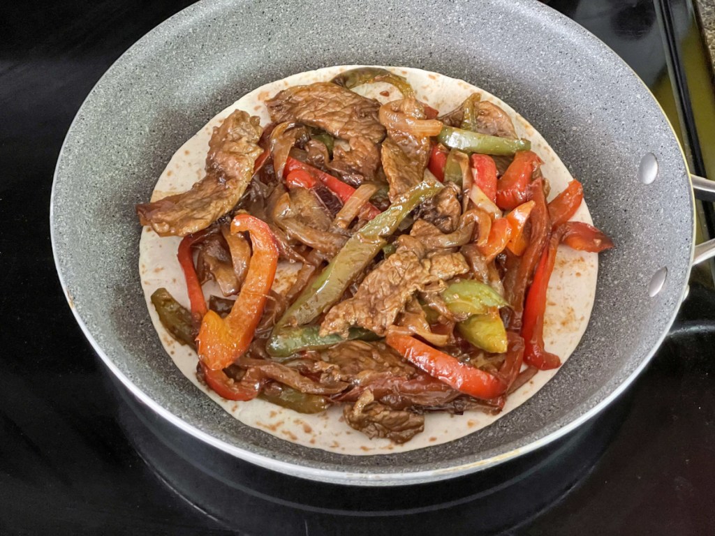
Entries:
POLYGON ((246 460, 330 482, 395 485, 463 474, 543 445, 606 405, 660 344, 689 274, 694 210, 669 124, 601 41, 530 0, 478 4, 204 1, 144 36, 77 114, 56 169, 56 262, 74 313, 109 368, 150 407, 246 460), (581 345, 536 396, 461 440, 348 457, 242 425, 164 353, 139 284, 134 204, 174 151, 217 111, 288 74, 337 64, 413 66, 465 79, 531 121, 581 179, 598 227, 596 304, 581 345), (653 152, 659 177, 636 172, 653 152), (664 289, 649 297, 666 266, 664 289))

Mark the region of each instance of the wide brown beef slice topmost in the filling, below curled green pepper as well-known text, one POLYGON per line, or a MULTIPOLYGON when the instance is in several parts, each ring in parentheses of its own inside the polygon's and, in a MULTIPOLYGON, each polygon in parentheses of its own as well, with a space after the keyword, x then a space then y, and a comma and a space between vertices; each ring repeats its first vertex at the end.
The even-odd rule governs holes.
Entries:
POLYGON ((378 121, 380 104, 330 82, 289 87, 267 100, 266 106, 277 123, 300 121, 342 139, 362 136, 379 143, 385 137, 385 127, 378 121))

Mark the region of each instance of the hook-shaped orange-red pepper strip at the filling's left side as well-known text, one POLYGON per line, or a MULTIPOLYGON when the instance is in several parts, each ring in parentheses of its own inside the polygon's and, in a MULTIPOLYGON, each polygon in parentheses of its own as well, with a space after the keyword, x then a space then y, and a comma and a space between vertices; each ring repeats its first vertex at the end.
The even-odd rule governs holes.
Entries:
POLYGON ((248 231, 253 254, 238 299, 225 319, 209 311, 197 337, 199 359, 209 369, 225 369, 240 357, 253 339, 273 284, 278 246, 268 224, 249 214, 238 214, 231 232, 248 231))

